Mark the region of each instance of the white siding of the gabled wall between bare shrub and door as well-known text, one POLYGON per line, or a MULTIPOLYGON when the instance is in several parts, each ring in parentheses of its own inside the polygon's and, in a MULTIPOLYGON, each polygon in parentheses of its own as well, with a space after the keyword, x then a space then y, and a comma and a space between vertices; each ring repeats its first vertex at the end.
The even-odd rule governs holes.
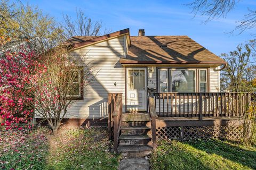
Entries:
POLYGON ((125 103, 124 67, 119 63, 119 59, 124 56, 124 46, 124 37, 118 37, 74 50, 71 55, 77 59, 85 56, 81 65, 90 63, 98 73, 84 89, 84 100, 77 100, 68 109, 67 117, 108 116, 108 93, 123 93, 123 104, 125 103))

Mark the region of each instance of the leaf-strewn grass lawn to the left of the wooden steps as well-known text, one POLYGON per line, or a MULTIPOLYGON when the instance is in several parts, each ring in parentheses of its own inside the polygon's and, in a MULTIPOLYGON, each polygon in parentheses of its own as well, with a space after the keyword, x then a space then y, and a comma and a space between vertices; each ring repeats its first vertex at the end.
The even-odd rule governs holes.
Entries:
POLYGON ((117 169, 107 130, 0 130, 0 169, 117 169))

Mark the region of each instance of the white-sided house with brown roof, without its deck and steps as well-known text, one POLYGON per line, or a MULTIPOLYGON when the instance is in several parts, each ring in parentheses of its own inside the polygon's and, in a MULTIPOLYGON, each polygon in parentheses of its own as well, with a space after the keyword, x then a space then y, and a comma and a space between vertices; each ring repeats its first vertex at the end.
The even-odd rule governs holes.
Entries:
POLYGON ((109 93, 123 94, 123 112, 147 112, 149 91, 219 92, 220 69, 226 65, 188 36, 145 36, 144 30, 130 36, 124 29, 104 36, 76 36, 66 43, 78 60, 86 55, 81 66, 90 62, 98 70, 90 86, 77 89, 68 118, 103 120, 108 116, 109 93))

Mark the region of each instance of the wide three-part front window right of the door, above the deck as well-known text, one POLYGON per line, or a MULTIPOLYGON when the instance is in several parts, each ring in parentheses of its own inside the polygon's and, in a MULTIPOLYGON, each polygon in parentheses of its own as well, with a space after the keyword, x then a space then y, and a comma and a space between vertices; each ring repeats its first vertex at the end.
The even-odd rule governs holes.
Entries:
POLYGON ((201 69, 158 69, 159 92, 200 92, 207 91, 207 70, 201 69), (197 78, 199 70, 199 78, 197 78), (199 81, 199 82, 198 82, 199 81), (199 88, 197 88, 199 83, 199 88))

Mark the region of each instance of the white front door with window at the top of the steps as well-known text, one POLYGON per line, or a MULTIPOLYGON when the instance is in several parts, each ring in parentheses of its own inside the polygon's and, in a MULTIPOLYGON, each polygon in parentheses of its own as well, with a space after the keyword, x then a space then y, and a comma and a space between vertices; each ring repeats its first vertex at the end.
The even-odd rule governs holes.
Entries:
POLYGON ((147 110, 146 68, 126 68, 126 110, 147 110))

